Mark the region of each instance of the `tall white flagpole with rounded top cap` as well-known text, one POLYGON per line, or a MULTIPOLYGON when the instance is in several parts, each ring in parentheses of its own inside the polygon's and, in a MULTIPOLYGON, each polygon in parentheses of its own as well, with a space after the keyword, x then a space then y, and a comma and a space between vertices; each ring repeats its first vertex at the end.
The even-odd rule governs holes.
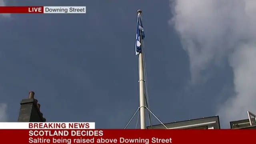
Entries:
MULTIPOLYGON (((137 11, 138 16, 141 16, 142 11, 137 11)), ((145 129, 145 99, 144 99, 144 64, 143 64, 143 42, 142 34, 140 31, 140 43, 141 43, 141 52, 139 54, 139 91, 140 91, 140 129, 145 129)))

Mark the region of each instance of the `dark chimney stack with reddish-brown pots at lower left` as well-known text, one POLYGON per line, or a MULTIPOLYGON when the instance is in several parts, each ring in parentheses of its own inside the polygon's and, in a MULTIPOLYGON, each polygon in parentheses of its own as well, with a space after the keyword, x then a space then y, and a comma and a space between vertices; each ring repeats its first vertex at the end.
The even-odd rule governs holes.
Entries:
POLYGON ((34 92, 29 92, 28 98, 20 102, 18 122, 46 122, 42 112, 40 112, 40 104, 34 99, 34 95, 34 92))

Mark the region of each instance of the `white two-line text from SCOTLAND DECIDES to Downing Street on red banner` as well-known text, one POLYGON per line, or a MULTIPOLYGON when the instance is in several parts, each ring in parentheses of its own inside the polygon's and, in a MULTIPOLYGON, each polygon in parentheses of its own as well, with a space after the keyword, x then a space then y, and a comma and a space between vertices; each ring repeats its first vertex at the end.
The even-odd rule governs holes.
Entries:
POLYGON ((166 144, 172 138, 103 138, 103 130, 30 130, 28 142, 31 144, 166 144))

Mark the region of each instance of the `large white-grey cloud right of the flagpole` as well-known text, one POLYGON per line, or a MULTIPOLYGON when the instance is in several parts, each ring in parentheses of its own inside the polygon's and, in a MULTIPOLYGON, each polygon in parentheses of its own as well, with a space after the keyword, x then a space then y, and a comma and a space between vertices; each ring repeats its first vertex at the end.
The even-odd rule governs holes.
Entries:
POLYGON ((229 58, 236 95, 220 106, 225 121, 256 112, 256 1, 170 0, 171 20, 190 57, 192 82, 202 70, 229 58))

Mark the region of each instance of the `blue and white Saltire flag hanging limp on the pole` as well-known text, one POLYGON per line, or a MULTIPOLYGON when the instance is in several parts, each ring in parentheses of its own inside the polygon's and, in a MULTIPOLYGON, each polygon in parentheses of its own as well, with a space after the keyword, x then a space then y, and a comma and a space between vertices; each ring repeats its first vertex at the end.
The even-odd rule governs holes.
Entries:
POLYGON ((138 55, 141 53, 142 51, 142 48, 141 48, 141 43, 144 38, 145 38, 145 34, 144 34, 144 29, 143 29, 143 26, 142 26, 142 20, 140 18, 140 15, 138 15, 138 18, 137 18, 137 33, 136 33, 136 44, 135 44, 135 54, 138 55), (141 38, 140 38, 141 36, 141 38))

